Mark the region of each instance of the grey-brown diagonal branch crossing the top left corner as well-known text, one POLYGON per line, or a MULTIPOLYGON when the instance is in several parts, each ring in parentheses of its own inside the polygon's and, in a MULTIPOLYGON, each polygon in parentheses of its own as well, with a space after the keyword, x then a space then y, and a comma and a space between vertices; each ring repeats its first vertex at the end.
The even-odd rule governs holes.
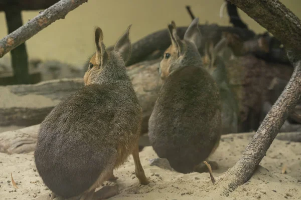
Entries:
POLYGON ((0 58, 88 0, 61 0, 0 41, 0 58))

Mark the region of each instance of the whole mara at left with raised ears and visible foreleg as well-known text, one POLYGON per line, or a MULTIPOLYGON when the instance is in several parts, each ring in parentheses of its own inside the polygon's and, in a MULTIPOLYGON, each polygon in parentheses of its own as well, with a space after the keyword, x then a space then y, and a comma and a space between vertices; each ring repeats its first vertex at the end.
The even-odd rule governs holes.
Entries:
POLYGON ((35 162, 53 196, 92 199, 132 154, 140 183, 148 184, 138 155, 142 111, 126 74, 130 55, 127 31, 110 54, 100 28, 85 87, 59 103, 41 123, 35 162))

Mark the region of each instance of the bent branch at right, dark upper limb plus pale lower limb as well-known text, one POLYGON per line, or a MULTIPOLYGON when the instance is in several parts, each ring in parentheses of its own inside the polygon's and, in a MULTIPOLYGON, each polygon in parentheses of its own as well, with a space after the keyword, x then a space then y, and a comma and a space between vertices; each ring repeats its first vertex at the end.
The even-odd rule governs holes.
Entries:
POLYGON ((288 114, 300 100, 301 22, 283 4, 276 0, 228 1, 234 3, 281 41, 287 49, 287 57, 294 67, 289 82, 263 119, 241 158, 225 174, 228 187, 234 190, 253 175, 288 114))

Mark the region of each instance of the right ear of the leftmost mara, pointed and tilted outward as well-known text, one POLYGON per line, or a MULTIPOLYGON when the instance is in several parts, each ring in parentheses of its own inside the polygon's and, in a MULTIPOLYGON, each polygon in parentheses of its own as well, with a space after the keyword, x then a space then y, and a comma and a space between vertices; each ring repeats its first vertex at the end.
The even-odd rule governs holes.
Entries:
POLYGON ((121 57, 125 63, 130 56, 130 41, 128 37, 130 27, 131 25, 127 27, 125 33, 119 38, 114 47, 114 50, 121 54, 121 57))

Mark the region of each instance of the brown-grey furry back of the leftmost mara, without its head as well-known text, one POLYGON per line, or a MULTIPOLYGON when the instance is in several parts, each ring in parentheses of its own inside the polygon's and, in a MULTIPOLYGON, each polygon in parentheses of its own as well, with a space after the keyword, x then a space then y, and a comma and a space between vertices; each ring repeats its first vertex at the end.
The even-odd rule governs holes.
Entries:
POLYGON ((35 151, 45 184, 66 198, 87 190, 115 164, 118 146, 138 139, 140 112, 130 85, 88 85, 59 103, 41 123, 35 151))

